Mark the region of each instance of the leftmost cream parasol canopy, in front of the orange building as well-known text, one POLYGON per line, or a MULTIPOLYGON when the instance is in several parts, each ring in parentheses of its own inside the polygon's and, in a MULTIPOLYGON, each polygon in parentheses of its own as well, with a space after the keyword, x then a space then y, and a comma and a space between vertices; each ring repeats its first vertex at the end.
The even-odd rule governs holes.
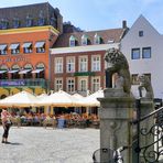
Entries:
POLYGON ((2 100, 0 100, 0 106, 3 107, 32 107, 36 106, 37 98, 28 93, 28 91, 20 91, 15 95, 9 96, 2 100))

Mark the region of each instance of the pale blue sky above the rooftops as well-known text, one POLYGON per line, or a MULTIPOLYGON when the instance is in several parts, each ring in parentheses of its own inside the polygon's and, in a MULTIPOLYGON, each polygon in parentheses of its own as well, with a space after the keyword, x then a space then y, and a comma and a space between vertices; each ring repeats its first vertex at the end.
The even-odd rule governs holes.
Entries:
POLYGON ((163 0, 1 0, 0 8, 47 1, 82 30, 121 28, 122 20, 130 28, 143 14, 163 34, 163 0))

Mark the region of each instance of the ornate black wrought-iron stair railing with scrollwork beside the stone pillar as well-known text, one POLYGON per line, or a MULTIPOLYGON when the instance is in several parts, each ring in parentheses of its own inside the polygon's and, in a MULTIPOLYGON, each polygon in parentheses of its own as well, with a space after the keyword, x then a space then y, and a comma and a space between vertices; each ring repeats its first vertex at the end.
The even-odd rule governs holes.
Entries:
POLYGON ((137 107, 137 120, 132 123, 137 128, 137 163, 159 163, 163 159, 163 107, 140 117, 140 100, 137 107))

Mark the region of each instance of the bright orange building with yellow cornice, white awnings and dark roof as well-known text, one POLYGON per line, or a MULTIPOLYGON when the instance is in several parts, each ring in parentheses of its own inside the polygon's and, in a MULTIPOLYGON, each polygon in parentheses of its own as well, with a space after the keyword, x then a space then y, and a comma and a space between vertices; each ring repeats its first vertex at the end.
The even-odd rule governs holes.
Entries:
POLYGON ((63 31, 48 3, 0 9, 0 98, 50 89, 50 47, 63 31))

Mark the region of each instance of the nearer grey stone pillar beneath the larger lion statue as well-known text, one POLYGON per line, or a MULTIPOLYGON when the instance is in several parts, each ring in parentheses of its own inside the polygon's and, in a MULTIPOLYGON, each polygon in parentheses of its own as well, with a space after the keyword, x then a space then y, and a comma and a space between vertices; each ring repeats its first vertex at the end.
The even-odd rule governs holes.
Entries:
MULTIPOLYGON (((121 88, 107 88, 104 90, 105 97, 98 98, 100 101, 100 148, 116 150, 123 145, 131 146, 132 119, 135 99, 123 93, 121 88)), ((122 152, 124 163, 132 162, 131 149, 122 152)), ((109 155, 102 157, 101 162, 108 162, 109 155)))

